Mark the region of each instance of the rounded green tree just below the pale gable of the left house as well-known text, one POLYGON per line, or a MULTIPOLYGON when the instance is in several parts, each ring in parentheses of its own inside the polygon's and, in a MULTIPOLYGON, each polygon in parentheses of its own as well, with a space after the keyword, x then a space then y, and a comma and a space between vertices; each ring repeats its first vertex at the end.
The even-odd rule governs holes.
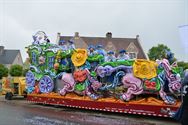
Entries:
POLYGON ((21 65, 12 65, 9 73, 11 76, 22 76, 23 67, 21 65))

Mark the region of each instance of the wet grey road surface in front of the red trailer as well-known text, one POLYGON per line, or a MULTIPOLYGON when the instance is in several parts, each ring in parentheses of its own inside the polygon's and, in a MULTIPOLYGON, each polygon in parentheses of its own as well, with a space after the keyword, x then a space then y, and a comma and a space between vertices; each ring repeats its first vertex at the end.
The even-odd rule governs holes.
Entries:
POLYGON ((0 97, 0 125, 180 125, 169 118, 127 115, 6 101, 0 97))

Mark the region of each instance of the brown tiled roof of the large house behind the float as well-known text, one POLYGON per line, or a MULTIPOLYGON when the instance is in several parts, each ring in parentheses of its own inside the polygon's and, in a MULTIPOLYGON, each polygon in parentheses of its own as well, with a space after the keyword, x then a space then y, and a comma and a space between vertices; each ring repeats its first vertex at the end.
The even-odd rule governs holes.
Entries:
POLYGON ((138 58, 146 59, 146 55, 139 43, 138 38, 111 38, 111 37, 74 37, 74 36, 60 36, 59 41, 61 40, 73 40, 76 48, 86 48, 88 45, 103 45, 104 48, 107 44, 112 43, 114 48, 116 48, 116 52, 122 49, 127 49, 130 43, 134 43, 136 48, 138 49, 138 58), (85 45, 85 44, 87 45, 85 45))

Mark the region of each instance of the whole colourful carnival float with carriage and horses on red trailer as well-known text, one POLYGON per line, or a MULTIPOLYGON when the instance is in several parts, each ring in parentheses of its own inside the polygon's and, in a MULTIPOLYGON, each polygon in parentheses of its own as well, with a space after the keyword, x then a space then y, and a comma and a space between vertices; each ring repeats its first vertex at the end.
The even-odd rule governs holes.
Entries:
MULTIPOLYGON (((181 104, 182 68, 129 59, 126 50, 52 44, 42 31, 27 48, 27 100, 81 109, 170 117, 181 104)), ((102 48, 102 47, 101 47, 102 48)))

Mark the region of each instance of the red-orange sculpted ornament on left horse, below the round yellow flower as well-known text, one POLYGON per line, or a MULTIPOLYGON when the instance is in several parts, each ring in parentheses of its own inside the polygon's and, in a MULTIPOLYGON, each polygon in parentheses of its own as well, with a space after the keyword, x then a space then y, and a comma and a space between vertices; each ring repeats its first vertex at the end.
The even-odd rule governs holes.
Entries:
POLYGON ((76 82, 84 82, 87 78, 87 72, 86 70, 78 70, 74 72, 73 76, 76 82))

